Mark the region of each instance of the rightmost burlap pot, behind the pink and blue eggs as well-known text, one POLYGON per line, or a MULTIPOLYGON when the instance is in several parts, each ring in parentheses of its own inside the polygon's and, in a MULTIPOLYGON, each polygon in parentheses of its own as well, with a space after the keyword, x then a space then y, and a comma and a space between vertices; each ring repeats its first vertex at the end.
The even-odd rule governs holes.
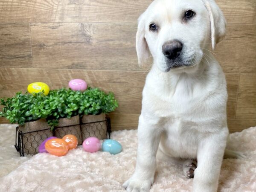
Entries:
POLYGON ((97 137, 99 140, 107 138, 106 114, 84 115, 81 122, 81 133, 83 141, 88 137, 97 137), (104 122, 99 122, 104 121, 104 122), (85 123, 85 124, 84 124, 85 123))

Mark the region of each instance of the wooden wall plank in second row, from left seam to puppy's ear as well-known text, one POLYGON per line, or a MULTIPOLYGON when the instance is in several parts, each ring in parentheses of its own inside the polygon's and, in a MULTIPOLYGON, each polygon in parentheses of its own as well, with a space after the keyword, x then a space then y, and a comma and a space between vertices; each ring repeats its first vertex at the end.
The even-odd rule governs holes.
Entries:
POLYGON ((137 64, 135 24, 32 23, 34 67, 143 70, 137 64))

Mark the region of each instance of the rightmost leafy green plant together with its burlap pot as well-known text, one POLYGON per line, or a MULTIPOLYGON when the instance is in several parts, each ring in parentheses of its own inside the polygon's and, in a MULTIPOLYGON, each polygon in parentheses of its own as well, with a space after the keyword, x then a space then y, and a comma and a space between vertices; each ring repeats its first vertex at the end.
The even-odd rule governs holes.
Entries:
POLYGON ((88 137, 107 137, 106 113, 114 111, 118 107, 118 102, 113 93, 105 93, 98 88, 88 87, 81 93, 79 102, 79 114, 81 114, 81 134, 82 139, 88 137), (95 123, 98 122, 98 123, 95 123))

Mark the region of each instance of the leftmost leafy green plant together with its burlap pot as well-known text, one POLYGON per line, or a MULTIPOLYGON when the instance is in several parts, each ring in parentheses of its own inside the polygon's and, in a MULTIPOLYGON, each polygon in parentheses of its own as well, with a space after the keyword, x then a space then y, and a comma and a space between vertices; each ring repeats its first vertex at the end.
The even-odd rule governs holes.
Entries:
POLYGON ((19 125, 19 131, 23 132, 23 150, 26 154, 38 153, 38 145, 53 135, 46 121, 51 111, 44 109, 44 99, 43 93, 31 95, 21 92, 12 98, 0 99, 0 104, 4 106, 0 116, 19 125))

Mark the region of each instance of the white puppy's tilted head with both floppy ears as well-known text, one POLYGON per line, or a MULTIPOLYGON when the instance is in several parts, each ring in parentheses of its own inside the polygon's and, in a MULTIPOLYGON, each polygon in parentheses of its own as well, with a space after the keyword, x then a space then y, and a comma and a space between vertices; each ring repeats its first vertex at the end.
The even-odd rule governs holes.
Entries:
POLYGON ((214 0, 155 0, 140 16, 136 49, 140 65, 152 54, 163 71, 186 71, 204 50, 224 38, 226 22, 214 0))

